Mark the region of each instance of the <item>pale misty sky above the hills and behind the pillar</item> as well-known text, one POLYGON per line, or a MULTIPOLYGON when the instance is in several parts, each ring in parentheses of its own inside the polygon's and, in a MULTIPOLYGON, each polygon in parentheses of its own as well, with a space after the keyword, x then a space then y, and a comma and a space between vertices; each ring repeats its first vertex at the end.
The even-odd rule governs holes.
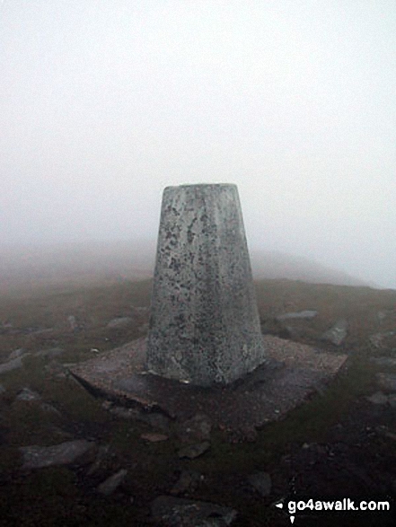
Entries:
POLYGON ((155 238, 236 183, 248 241, 396 288, 393 0, 3 0, 0 242, 155 238))

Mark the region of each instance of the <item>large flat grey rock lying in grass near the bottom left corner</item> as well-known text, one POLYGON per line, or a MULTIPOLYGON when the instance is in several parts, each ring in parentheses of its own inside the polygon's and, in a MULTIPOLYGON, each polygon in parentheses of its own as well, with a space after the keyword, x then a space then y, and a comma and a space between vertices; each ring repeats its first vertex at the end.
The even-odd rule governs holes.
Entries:
POLYGON ((51 446, 22 446, 19 450, 23 454, 22 469, 41 469, 53 465, 68 465, 94 448, 92 441, 76 439, 51 446))

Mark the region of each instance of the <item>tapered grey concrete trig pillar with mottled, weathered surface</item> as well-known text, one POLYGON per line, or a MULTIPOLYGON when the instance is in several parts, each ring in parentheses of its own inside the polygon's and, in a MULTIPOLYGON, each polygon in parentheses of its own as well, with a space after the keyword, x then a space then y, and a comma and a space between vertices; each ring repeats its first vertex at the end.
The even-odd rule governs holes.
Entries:
POLYGON ((235 185, 167 187, 158 235, 147 368, 200 386, 265 360, 235 185))

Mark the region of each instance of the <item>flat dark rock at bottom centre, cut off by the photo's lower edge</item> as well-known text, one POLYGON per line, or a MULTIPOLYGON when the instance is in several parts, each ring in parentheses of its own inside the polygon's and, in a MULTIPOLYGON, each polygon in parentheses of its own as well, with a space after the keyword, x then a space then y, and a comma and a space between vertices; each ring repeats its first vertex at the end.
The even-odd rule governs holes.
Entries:
POLYGON ((173 496, 155 498, 151 513, 155 524, 164 527, 224 527, 237 515, 230 507, 173 496))

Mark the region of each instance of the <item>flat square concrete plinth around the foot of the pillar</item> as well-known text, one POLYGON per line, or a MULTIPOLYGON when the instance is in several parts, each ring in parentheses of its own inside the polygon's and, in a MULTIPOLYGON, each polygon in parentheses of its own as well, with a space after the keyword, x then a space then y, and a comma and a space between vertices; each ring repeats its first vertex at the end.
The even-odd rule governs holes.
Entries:
POLYGON ((71 373, 85 388, 110 400, 160 410, 176 420, 203 412, 214 426, 249 436, 321 390, 347 359, 272 336, 264 337, 264 345, 266 365, 213 388, 146 373, 144 338, 77 365, 71 373))

